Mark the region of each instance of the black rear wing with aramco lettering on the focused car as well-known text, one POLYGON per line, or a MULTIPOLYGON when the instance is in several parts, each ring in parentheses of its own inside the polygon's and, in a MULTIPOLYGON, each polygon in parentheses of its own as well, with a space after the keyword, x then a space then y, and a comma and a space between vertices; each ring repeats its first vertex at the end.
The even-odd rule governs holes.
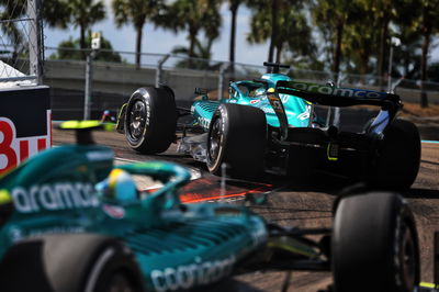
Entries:
POLYGON ((331 87, 302 81, 278 81, 277 91, 329 106, 368 104, 382 106, 383 110, 394 113, 403 106, 399 97, 396 94, 365 89, 331 87))

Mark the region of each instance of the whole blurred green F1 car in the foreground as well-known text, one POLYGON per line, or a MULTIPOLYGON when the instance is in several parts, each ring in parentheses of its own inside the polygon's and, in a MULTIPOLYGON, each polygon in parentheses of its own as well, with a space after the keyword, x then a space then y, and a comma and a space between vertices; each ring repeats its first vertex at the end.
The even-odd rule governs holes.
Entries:
POLYGON ((419 283, 415 222, 395 193, 340 196, 333 228, 282 227, 245 206, 182 204, 184 168, 113 166, 90 125, 64 127, 80 128, 77 145, 43 151, 0 179, 2 291, 178 291, 256 270, 333 270, 338 292, 419 283), (138 191, 131 175, 164 187, 138 191))

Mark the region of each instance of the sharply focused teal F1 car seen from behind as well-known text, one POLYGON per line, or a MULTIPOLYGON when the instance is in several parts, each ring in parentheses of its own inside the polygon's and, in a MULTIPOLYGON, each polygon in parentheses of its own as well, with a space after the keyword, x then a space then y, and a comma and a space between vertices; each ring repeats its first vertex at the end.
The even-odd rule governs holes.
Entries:
POLYGON ((241 178, 324 171, 380 188, 412 186, 420 139, 413 123, 395 119, 403 106, 398 96, 294 81, 279 74, 285 66, 264 65, 273 72, 230 82, 228 99, 211 101, 196 89, 203 98, 191 110, 176 108, 169 87, 140 88, 122 106, 117 130, 139 153, 162 153, 177 142, 178 151, 205 161, 213 173, 225 162, 228 173, 241 178), (375 105, 381 111, 361 133, 352 133, 325 124, 314 105, 375 105), (183 115, 192 119, 177 126, 183 115), (178 138, 177 131, 182 133, 178 138))

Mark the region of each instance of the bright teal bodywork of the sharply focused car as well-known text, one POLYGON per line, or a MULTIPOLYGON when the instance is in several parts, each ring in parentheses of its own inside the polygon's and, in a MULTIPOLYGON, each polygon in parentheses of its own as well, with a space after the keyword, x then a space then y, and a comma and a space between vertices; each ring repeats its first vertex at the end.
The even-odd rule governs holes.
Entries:
MULTIPOLYGON (((278 81, 291 81, 292 79, 282 74, 264 74, 262 78, 268 82, 269 88, 275 88, 278 81)), ((306 127, 309 124, 312 104, 304 99, 291 94, 279 94, 288 124, 291 127, 306 127)), ((210 121, 219 103, 237 103, 251 105, 261 109, 266 113, 267 123, 273 127, 280 127, 279 119, 267 98, 267 90, 263 83, 258 81, 236 81, 229 85, 229 98, 219 101, 210 101, 205 97, 195 101, 192 105, 192 115, 198 124, 207 130, 210 121)))

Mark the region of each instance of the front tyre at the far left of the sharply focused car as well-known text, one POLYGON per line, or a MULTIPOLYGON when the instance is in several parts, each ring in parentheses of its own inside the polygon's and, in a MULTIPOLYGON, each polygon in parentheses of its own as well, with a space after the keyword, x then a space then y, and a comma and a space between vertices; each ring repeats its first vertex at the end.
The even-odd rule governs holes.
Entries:
POLYGON ((170 89, 139 88, 130 98, 125 113, 125 137, 143 154, 166 151, 176 138, 177 108, 170 89))

